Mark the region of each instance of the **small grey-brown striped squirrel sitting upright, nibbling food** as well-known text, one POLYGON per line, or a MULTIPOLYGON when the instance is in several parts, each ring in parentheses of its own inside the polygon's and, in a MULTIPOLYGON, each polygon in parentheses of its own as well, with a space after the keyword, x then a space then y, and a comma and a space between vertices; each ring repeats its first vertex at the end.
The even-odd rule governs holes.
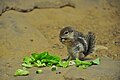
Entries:
POLYGON ((88 32, 87 35, 76 31, 73 27, 64 27, 59 34, 59 40, 62 44, 67 46, 68 59, 84 58, 94 51, 95 47, 95 34, 88 32))

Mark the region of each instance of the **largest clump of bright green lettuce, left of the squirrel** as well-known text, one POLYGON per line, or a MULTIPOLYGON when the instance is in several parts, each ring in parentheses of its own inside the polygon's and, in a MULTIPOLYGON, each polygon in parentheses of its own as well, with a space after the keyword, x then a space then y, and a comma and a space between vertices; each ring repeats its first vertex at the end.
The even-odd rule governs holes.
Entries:
POLYGON ((33 53, 30 57, 25 57, 23 59, 22 66, 24 67, 32 67, 32 65, 36 67, 52 66, 59 64, 60 61, 61 61, 60 57, 51 55, 48 52, 33 53))

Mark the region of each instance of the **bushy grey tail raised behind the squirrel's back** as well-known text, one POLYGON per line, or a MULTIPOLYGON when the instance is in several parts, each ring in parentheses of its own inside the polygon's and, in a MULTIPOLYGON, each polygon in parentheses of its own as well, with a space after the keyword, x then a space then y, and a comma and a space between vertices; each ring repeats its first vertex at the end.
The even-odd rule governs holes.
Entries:
POLYGON ((87 56, 90 53, 92 53, 94 51, 94 47, 95 47, 95 34, 92 32, 88 32, 87 36, 86 36, 86 41, 88 43, 88 49, 84 52, 84 55, 87 56))

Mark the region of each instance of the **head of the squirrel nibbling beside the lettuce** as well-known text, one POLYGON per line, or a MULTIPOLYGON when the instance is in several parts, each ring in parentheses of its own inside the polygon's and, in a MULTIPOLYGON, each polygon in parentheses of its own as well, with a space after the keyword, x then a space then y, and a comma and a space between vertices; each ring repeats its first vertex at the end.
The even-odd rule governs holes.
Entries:
POLYGON ((72 27, 65 27, 60 31, 60 42, 63 44, 68 44, 74 40, 74 29, 72 27))

